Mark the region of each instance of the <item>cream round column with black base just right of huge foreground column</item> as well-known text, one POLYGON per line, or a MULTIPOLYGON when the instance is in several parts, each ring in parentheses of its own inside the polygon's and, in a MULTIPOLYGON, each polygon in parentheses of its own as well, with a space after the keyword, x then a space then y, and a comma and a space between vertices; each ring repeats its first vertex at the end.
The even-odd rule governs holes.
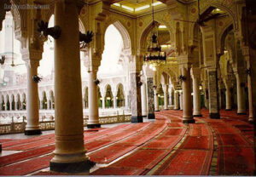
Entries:
POLYGON ((99 122, 99 105, 98 105, 98 90, 96 83, 94 82, 97 78, 97 70, 89 72, 89 87, 88 87, 88 105, 89 105, 89 120, 87 128, 100 128, 101 123, 99 122))

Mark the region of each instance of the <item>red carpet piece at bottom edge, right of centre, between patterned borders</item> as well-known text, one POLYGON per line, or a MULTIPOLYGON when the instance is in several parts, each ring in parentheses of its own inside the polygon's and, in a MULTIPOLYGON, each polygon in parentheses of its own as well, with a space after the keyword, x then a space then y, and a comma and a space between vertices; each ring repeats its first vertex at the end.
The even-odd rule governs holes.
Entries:
POLYGON ((154 175, 207 175, 211 151, 179 150, 154 175))

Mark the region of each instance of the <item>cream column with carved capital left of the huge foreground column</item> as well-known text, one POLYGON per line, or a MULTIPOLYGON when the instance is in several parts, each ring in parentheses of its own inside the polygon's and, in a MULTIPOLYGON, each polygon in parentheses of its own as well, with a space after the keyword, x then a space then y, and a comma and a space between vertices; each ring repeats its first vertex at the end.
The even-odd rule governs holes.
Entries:
POLYGON ((42 52, 24 49, 21 54, 22 60, 26 62, 27 69, 25 134, 42 134, 39 125, 38 83, 33 81, 33 76, 38 75, 39 60, 41 60, 42 52))

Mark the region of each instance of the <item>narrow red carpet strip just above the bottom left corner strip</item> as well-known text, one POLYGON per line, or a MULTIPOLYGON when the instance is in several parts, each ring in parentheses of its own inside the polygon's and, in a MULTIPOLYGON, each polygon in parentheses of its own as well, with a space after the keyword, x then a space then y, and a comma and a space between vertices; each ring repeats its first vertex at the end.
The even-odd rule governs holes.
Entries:
POLYGON ((35 148, 29 151, 22 151, 22 152, 18 152, 15 154, 11 154, 8 156, 3 156, 0 157, 0 167, 10 164, 10 163, 16 163, 16 162, 20 162, 22 160, 26 160, 32 157, 38 157, 38 156, 42 156, 44 154, 50 153, 52 151, 55 150, 55 146, 44 146, 44 147, 39 147, 39 148, 35 148))

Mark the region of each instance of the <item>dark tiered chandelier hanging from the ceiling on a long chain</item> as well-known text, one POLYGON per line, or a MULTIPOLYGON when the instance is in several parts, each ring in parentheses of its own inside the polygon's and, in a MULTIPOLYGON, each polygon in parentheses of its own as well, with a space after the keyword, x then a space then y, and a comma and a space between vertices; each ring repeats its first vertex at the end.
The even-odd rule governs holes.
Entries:
POLYGON ((160 63, 166 63, 166 52, 161 51, 160 44, 158 42, 158 26, 156 22, 154 21, 154 0, 152 0, 152 32, 151 32, 151 38, 148 41, 148 49, 146 54, 144 55, 144 62, 147 62, 149 64, 160 64, 160 63))

